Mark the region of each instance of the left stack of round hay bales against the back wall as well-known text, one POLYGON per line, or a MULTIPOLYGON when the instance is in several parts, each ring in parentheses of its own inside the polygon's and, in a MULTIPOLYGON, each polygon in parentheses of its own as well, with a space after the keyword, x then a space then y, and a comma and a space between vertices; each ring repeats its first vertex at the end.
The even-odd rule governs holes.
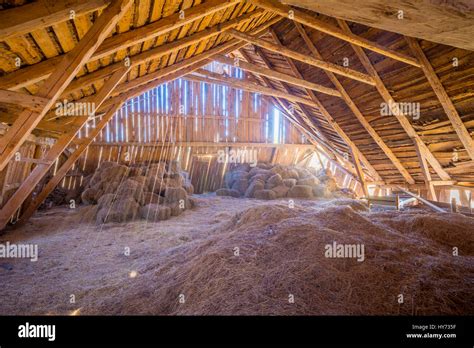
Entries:
POLYGON ((167 220, 192 208, 188 195, 194 192, 179 163, 158 162, 149 166, 126 166, 104 162, 86 178, 82 201, 97 204, 96 222, 124 222, 141 217, 167 220))

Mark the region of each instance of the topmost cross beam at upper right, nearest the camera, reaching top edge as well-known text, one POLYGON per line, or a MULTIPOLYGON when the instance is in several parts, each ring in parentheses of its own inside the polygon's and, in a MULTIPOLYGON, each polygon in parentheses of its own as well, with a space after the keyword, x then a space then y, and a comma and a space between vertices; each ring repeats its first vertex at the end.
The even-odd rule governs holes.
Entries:
POLYGON ((294 21, 299 22, 303 25, 306 25, 310 28, 316 29, 327 35, 334 36, 338 39, 344 40, 346 42, 355 44, 360 47, 364 47, 368 50, 377 52, 381 55, 398 60, 400 62, 404 62, 406 64, 410 64, 416 67, 420 66, 417 60, 413 57, 409 57, 405 54, 387 49, 375 42, 371 42, 360 36, 344 33, 341 29, 339 29, 338 27, 334 25, 323 22, 322 20, 319 20, 313 17, 312 15, 306 12, 303 12, 301 10, 281 4, 276 0, 248 0, 248 1, 258 7, 264 8, 267 11, 275 12, 282 17, 288 18, 291 14, 291 18, 294 21))

